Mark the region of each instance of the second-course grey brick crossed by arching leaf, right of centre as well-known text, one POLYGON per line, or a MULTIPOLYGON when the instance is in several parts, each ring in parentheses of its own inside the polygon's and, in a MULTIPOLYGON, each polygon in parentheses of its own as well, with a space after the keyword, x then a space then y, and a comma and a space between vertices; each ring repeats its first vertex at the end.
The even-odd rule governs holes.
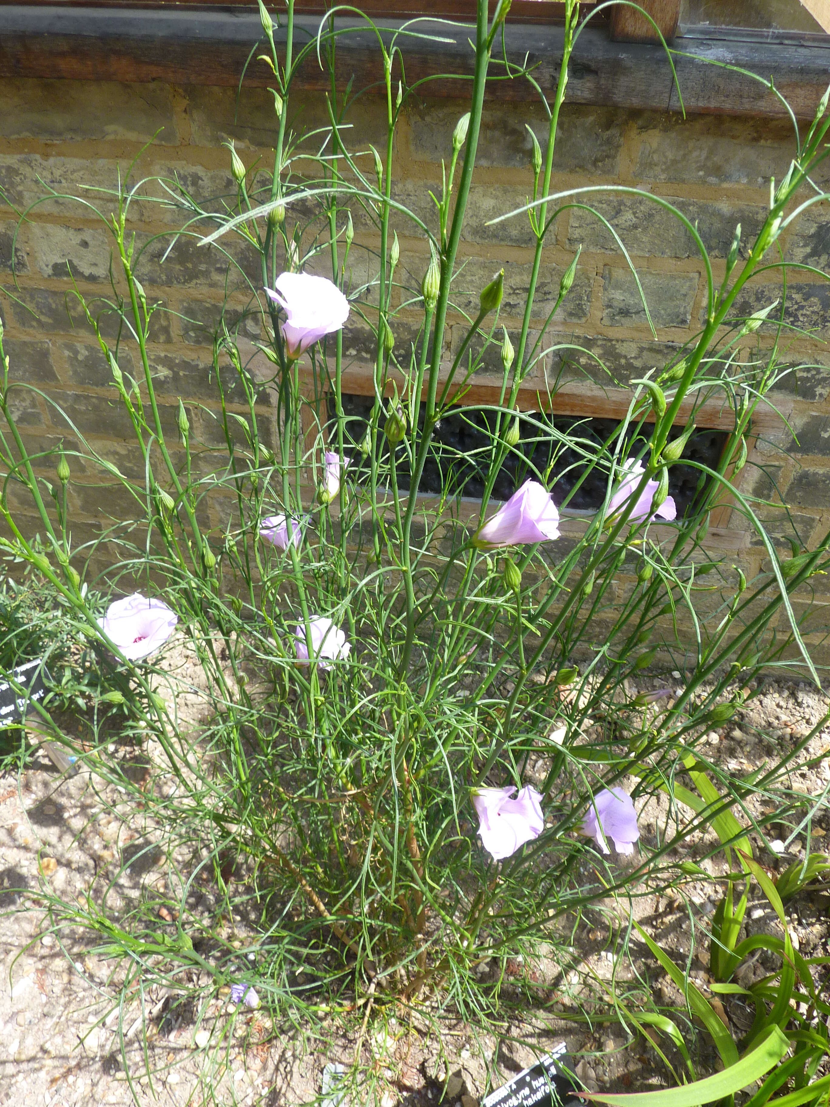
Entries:
MULTIPOLYGON (((741 226, 741 252, 746 257, 767 215, 765 208, 746 204, 704 204, 665 198, 693 225, 697 224, 703 244, 714 258, 726 257, 738 223, 741 226)), ((600 199, 587 197, 585 201, 608 219, 632 255, 665 258, 701 256, 695 240, 679 219, 652 200, 611 196, 600 199)), ((620 252, 611 231, 596 216, 581 208, 571 211, 568 245, 574 250, 582 245, 585 250, 620 252)))

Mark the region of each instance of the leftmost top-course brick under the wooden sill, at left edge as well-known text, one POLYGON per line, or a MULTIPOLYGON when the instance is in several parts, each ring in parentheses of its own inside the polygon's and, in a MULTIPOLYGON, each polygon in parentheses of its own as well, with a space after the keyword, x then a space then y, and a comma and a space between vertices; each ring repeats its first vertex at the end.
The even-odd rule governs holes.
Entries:
POLYGON ((154 141, 175 145, 180 141, 169 85, 17 76, 0 80, 0 135, 44 142, 154 141))

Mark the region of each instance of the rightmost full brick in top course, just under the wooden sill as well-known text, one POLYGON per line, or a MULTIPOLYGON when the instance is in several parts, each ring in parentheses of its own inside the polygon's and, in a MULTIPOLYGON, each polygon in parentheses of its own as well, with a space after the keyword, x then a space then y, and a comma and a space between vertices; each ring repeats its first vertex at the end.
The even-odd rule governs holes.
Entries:
POLYGON ((789 123, 727 115, 644 115, 637 180, 761 187, 780 179, 793 154, 789 123))

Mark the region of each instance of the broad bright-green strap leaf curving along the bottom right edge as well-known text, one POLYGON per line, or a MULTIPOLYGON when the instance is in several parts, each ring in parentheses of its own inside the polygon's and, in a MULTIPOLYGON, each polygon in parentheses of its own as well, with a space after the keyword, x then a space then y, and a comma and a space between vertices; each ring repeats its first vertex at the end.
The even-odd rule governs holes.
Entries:
MULTIPOLYGON (((639 928, 637 928, 639 929, 639 928)), ((749 1053, 744 1054, 740 1061, 729 1065, 723 1073, 707 1076, 703 1080, 695 1080, 694 1084, 684 1084, 679 1088, 670 1088, 660 1092, 640 1092, 633 1094, 618 1095, 606 1092, 580 1092, 585 1099, 594 1099, 598 1103, 611 1104, 612 1107, 699 1107, 701 1104, 710 1104, 725 1096, 735 1095, 741 1088, 754 1084, 760 1079, 765 1073, 779 1063, 789 1049, 789 1042, 777 1026, 770 1026, 768 1033, 749 1053)), ((821 1083, 821 1082, 818 1082, 821 1083)), ((818 1083, 813 1088, 818 1087, 818 1083)), ((830 1078, 828 1078, 830 1083, 830 1078)), ((775 1099, 776 1107, 784 1107, 785 1100, 775 1099)), ((806 1103, 810 1096, 799 1099, 806 1103)), ((795 1104, 787 1104, 786 1107, 795 1107, 795 1104)))

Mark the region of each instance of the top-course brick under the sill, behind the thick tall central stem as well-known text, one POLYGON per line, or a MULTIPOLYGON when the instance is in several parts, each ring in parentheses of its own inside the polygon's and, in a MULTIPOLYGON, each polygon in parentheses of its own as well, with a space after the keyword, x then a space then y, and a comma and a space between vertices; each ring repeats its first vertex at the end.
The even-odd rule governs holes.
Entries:
MULTIPOLYGON (((434 102, 414 107, 409 115, 413 156, 427 162, 445 161, 452 155, 453 131, 468 111, 461 102, 434 102)), ((596 173, 613 176, 620 167, 624 114, 614 108, 566 105, 559 117, 553 169, 556 173, 596 173)), ((548 148, 548 121, 535 105, 521 112, 485 105, 478 139, 476 165, 527 168, 528 188, 532 187, 530 158, 532 141, 525 124, 532 127, 542 153, 548 148)))

